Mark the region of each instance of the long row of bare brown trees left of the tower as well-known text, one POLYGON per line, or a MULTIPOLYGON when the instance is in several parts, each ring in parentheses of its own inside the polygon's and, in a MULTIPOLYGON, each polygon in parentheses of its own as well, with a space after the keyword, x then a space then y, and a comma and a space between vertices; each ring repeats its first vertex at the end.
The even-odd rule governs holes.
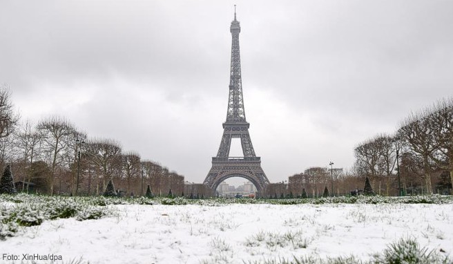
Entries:
POLYGON ((10 95, 0 85, 0 169, 12 165, 18 191, 98 195, 108 180, 127 196, 144 194, 147 185, 155 195, 184 191, 184 176, 123 151, 116 140, 88 138, 64 117, 22 124, 10 95))

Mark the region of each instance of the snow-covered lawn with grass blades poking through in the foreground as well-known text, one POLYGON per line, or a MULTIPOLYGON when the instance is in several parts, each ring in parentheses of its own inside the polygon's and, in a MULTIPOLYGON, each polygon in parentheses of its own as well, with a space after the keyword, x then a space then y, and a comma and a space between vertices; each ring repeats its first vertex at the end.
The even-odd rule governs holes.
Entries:
POLYGON ((0 241, 0 263, 11 263, 2 254, 54 254, 61 263, 91 264, 253 263, 309 254, 367 260, 399 238, 453 254, 453 204, 109 207, 116 216, 26 227, 0 241))

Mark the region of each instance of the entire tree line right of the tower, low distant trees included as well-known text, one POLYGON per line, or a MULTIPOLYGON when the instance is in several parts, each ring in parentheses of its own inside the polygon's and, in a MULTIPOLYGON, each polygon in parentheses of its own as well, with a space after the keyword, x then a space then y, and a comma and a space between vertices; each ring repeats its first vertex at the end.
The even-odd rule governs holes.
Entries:
POLYGON ((409 114, 393 133, 380 133, 354 148, 350 169, 310 167, 267 187, 266 196, 320 197, 357 194, 365 178, 376 194, 452 194, 453 98, 409 114), (332 190, 331 183, 334 183, 332 190))

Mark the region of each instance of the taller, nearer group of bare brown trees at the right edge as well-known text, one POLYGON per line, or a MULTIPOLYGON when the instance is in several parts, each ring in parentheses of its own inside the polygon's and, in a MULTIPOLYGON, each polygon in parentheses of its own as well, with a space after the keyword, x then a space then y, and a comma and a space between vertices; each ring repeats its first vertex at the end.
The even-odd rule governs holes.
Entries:
POLYGON ((393 135, 376 135, 358 144, 354 149, 358 174, 369 177, 378 194, 390 195, 396 181, 398 192, 449 192, 453 184, 452 122, 453 99, 412 113, 393 135))

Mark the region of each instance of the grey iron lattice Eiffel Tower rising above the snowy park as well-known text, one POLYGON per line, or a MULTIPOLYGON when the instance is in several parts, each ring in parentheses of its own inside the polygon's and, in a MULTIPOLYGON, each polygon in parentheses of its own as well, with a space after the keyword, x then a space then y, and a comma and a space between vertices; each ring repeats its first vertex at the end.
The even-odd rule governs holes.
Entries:
POLYGON ((227 121, 223 123, 224 131, 219 151, 217 156, 212 158, 211 170, 203 184, 215 192, 218 185, 227 178, 242 177, 255 185, 260 197, 264 195, 269 180, 261 168, 261 158, 257 157, 253 150, 249 134, 250 124, 245 119, 239 51, 240 24, 236 20, 236 8, 230 32, 232 44, 227 121), (231 138, 240 138, 244 157, 229 157, 231 138))

